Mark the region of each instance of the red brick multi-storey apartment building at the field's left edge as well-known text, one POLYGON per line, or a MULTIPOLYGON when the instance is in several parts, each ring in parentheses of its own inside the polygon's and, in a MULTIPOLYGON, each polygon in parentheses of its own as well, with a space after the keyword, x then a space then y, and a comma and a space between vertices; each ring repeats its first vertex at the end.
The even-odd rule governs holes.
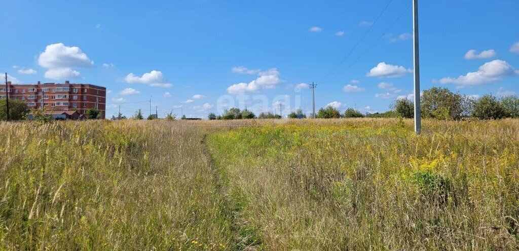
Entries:
MULTIPOLYGON (((7 82, 9 99, 22 100, 30 109, 49 111, 77 110, 86 114, 87 110, 97 107, 103 118, 106 111, 106 88, 88 83, 38 83, 36 85, 13 85, 7 82)), ((6 98, 5 85, 0 85, 0 99, 6 98)))

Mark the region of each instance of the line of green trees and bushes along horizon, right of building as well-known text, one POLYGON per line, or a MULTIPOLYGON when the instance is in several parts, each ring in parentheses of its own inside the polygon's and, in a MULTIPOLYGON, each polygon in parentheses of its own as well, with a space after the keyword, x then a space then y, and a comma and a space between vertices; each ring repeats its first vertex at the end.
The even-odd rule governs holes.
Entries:
MULTIPOLYGON (((414 118, 414 102, 407 98, 399 98, 385 113, 362 114, 354 108, 347 108, 344 113, 332 106, 320 108, 317 118, 414 118)), ((496 97, 486 94, 482 97, 473 97, 454 93, 447 88, 433 87, 425 90, 420 96, 420 113, 422 118, 440 120, 460 120, 463 118, 502 119, 519 118, 519 99, 516 95, 496 97)), ((306 118, 301 108, 293 111, 288 118, 306 118)), ((312 117, 310 114, 308 117, 312 117)), ((240 110, 233 107, 224 110, 222 115, 210 113, 209 120, 231 119, 280 119, 281 116, 271 112, 263 112, 256 116, 247 108, 240 110)))

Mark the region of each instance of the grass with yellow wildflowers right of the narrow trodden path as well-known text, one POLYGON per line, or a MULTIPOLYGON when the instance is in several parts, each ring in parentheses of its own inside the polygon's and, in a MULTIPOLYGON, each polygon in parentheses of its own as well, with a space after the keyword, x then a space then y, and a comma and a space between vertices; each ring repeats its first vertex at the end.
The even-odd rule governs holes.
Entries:
POLYGON ((214 134, 268 250, 519 248, 519 121, 302 121, 214 134))

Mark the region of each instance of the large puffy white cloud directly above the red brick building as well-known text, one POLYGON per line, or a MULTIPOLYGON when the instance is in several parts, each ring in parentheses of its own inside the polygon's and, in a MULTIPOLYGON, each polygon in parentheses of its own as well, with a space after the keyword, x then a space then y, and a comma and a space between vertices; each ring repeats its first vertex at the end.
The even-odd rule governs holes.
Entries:
POLYGON ((94 62, 79 47, 58 43, 48 45, 39 54, 38 64, 47 69, 46 78, 64 79, 79 77, 79 72, 73 67, 91 67, 94 62))

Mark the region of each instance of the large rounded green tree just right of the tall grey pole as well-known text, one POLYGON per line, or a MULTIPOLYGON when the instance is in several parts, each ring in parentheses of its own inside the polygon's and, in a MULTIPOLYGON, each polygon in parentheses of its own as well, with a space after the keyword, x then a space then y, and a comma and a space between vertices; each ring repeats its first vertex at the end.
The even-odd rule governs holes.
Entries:
POLYGON ((433 87, 421 95, 421 116, 424 118, 460 119, 462 96, 447 88, 433 87))

